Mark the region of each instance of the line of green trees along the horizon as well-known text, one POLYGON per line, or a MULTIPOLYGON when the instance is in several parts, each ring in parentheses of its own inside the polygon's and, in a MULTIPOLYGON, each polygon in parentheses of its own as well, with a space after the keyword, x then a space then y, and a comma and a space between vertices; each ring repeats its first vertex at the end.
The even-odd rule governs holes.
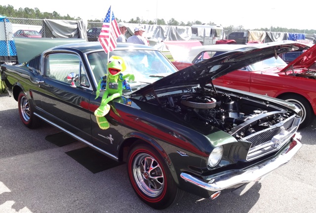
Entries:
MULTIPOLYGON (((25 19, 59 19, 59 20, 80 20, 80 17, 70 17, 69 14, 67 16, 62 16, 58 12, 53 11, 50 12, 40 12, 40 9, 35 7, 34 9, 25 7, 20 7, 19 9, 14 9, 14 7, 10 4, 7 6, 0 5, 0 15, 6 16, 9 18, 25 18, 25 19)), ((169 21, 165 21, 164 19, 155 19, 155 20, 144 20, 140 17, 132 18, 129 21, 121 20, 118 17, 118 22, 125 22, 125 23, 133 23, 133 24, 149 24, 149 25, 170 25, 170 26, 192 26, 192 25, 199 25, 203 24, 200 21, 188 21, 187 23, 184 23, 182 21, 177 21, 174 18, 171 18, 169 21)), ((87 20, 88 22, 103 22, 103 20, 87 20)), ((214 25, 214 22, 209 21, 208 23, 205 23, 208 25, 214 25)), ((223 26, 224 27, 224 26, 223 26)), ((299 30, 299 29, 288 29, 288 28, 282 28, 282 27, 271 27, 271 28, 256 28, 256 29, 244 29, 242 25, 239 26, 226 26, 224 27, 225 30, 228 31, 247 31, 247 30, 254 30, 254 31, 266 31, 266 32, 285 32, 285 33, 303 33, 303 34, 316 34, 316 30, 299 30)))

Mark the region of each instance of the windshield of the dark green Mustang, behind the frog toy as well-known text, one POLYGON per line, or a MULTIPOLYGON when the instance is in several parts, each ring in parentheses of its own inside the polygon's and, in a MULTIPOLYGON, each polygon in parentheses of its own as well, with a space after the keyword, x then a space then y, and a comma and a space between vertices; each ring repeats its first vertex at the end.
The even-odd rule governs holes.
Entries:
MULTIPOLYGON (((135 81, 130 82, 130 86, 139 83, 153 83, 160 78, 176 72, 175 67, 158 50, 115 50, 110 52, 111 56, 120 56, 124 59, 126 70, 124 74, 132 73, 135 81)), ((94 83, 107 73, 107 54, 104 51, 89 53, 87 55, 90 68, 93 73, 94 83)))

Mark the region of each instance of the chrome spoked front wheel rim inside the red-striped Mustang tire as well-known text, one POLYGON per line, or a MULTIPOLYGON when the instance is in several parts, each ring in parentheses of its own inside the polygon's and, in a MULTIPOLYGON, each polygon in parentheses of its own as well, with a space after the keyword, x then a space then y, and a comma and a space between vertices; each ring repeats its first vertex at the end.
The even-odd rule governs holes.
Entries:
POLYGON ((164 177, 158 161, 149 154, 138 154, 132 164, 133 176, 139 189, 149 197, 157 197, 164 187, 164 177))

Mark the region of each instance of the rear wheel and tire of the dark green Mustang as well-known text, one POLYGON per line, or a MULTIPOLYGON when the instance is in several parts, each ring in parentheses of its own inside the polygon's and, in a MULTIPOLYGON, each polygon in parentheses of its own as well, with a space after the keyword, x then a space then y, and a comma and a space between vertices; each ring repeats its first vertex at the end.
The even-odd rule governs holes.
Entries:
POLYGON ((23 124, 30 129, 37 128, 39 126, 40 119, 34 115, 34 108, 23 91, 20 92, 18 97, 18 107, 23 124))

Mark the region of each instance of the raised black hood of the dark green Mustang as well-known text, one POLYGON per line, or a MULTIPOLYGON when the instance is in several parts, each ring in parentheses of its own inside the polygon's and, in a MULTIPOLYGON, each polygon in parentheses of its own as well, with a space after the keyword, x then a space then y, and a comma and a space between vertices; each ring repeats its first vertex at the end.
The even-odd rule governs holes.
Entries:
POLYGON ((224 54, 212 57, 181 71, 172 73, 160 80, 147 85, 133 94, 146 95, 153 90, 167 89, 176 86, 209 84, 213 79, 231 71, 254 64, 277 55, 298 50, 300 47, 293 41, 280 41, 246 46, 224 54))

